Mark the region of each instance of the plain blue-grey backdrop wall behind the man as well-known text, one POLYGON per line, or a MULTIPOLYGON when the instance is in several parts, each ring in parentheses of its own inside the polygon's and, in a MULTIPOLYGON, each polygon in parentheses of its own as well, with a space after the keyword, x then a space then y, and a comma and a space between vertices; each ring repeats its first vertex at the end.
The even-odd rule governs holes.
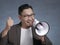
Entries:
POLYGON ((5 28, 9 16, 14 24, 19 23, 18 7, 25 3, 32 5, 35 18, 49 23, 48 37, 53 45, 60 45, 60 0, 0 0, 0 32, 5 28))

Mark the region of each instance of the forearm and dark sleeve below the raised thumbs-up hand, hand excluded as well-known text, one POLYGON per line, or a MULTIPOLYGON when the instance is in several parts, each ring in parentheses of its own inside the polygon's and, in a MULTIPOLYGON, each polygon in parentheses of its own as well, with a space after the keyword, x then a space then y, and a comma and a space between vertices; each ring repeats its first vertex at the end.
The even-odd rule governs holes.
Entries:
POLYGON ((0 34, 0 45, 6 45, 7 41, 7 33, 8 33, 9 28, 6 27, 0 34))

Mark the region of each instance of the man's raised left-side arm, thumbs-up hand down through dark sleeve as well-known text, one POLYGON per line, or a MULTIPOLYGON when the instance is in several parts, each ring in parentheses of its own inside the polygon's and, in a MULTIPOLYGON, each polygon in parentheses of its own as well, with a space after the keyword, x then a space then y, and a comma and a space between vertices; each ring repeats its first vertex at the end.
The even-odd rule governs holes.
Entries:
POLYGON ((8 38, 7 34, 12 25, 13 25, 13 20, 11 19, 11 17, 9 17, 5 29, 0 34, 0 43, 7 42, 7 38, 8 38))

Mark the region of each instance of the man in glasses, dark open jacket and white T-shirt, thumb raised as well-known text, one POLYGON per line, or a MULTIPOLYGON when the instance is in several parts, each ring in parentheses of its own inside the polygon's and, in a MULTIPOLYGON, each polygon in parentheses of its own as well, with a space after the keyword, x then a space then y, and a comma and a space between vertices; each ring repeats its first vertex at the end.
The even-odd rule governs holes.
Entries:
POLYGON ((13 25, 13 20, 9 17, 6 28, 0 36, 1 45, 46 45, 46 36, 38 36, 34 32, 35 14, 32 6, 28 4, 21 5, 18 8, 18 14, 21 22, 13 25))

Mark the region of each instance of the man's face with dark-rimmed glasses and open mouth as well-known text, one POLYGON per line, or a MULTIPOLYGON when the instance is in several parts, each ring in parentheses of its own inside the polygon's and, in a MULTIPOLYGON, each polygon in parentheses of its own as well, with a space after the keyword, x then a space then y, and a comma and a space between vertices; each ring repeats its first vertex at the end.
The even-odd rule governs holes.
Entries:
POLYGON ((31 8, 24 9, 21 13, 20 20, 24 26, 32 26, 34 22, 34 12, 31 8))

